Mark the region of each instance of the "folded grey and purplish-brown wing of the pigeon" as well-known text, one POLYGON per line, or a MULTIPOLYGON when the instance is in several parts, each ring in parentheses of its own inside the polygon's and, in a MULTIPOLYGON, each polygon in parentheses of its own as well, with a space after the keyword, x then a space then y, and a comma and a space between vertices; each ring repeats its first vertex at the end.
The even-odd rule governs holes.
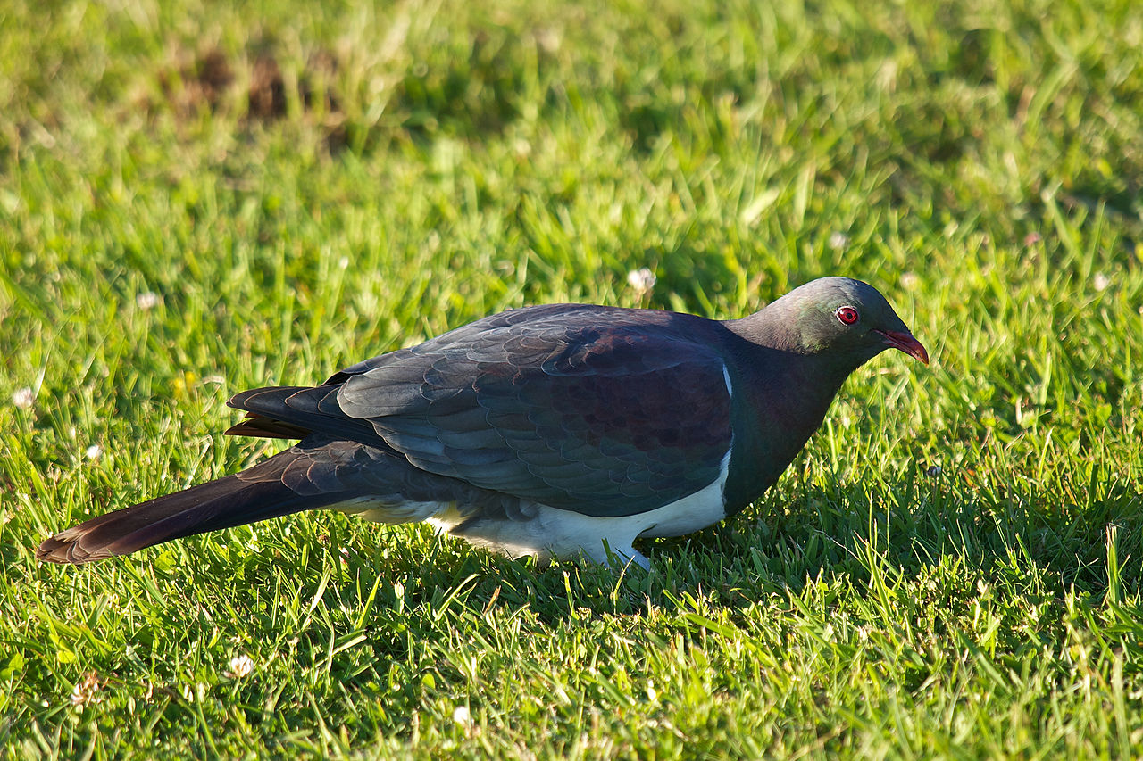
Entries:
POLYGON ((730 398, 706 325, 664 312, 517 310, 367 360, 328 385, 247 392, 235 406, 485 489, 630 515, 720 475, 730 398))

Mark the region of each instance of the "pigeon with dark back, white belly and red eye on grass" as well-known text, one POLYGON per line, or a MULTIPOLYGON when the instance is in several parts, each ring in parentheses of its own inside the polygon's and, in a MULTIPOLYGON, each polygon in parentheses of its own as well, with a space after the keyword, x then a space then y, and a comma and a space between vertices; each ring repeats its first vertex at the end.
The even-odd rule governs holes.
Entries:
POLYGON ((243 391, 227 434, 295 440, 241 472, 91 518, 37 558, 87 563, 306 510, 426 521, 542 562, 649 560, 633 543, 742 511, 887 349, 928 365, 872 286, 807 282, 741 319, 526 306, 335 373, 243 391))

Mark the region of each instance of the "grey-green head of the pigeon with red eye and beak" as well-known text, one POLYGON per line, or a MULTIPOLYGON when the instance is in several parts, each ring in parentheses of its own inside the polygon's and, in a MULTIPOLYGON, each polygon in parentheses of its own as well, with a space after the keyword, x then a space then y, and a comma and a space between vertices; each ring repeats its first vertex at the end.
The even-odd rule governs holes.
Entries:
POLYGON ((821 278, 793 289, 761 312, 760 337, 774 349, 834 359, 849 370, 886 349, 928 365, 928 352, 885 297, 850 278, 821 278))

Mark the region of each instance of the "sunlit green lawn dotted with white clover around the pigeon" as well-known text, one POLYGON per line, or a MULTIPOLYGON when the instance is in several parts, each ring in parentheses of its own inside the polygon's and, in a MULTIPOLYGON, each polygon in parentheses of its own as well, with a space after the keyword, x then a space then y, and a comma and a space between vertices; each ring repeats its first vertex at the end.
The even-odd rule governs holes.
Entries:
POLYGON ((0 755, 1138 758, 1133 5, 6 3, 0 755), (235 391, 830 273, 933 366, 650 576, 333 514, 34 561, 256 459, 235 391))

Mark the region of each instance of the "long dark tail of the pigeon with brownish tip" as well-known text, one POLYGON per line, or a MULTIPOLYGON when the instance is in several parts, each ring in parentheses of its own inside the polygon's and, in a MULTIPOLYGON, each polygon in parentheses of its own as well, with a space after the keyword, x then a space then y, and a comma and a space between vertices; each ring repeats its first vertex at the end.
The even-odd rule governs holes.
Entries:
MULTIPOLYGON (((265 473, 270 470, 266 465, 278 458, 282 458, 283 466, 288 465, 289 460, 283 458, 288 454, 281 452, 258 470, 265 473)), ((352 496, 344 492, 298 494, 282 482, 280 472, 279 478, 253 481, 249 476, 242 478, 246 475, 227 475, 93 518, 46 539, 35 556, 53 563, 89 563, 184 536, 327 507, 352 496)))

